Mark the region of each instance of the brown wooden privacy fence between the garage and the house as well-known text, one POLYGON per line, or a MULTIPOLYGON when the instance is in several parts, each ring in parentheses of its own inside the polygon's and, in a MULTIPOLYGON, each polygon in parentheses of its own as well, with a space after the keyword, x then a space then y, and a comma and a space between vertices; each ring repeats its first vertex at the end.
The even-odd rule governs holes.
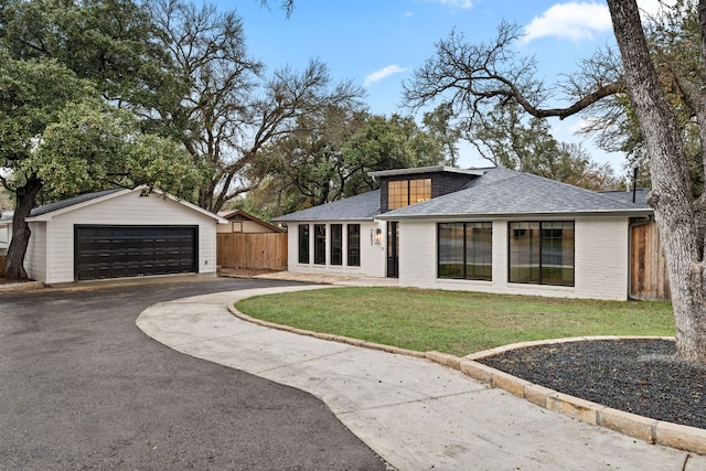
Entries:
POLYGON ((225 233, 216 237, 216 264, 221 267, 287 269, 287 233, 225 233))

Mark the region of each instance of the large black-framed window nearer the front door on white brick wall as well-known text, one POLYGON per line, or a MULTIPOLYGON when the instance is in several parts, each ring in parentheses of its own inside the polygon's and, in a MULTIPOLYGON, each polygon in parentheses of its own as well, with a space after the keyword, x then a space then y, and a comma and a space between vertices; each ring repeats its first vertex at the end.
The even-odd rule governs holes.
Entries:
POLYGON ((493 279, 493 224, 440 223, 439 278, 493 279))

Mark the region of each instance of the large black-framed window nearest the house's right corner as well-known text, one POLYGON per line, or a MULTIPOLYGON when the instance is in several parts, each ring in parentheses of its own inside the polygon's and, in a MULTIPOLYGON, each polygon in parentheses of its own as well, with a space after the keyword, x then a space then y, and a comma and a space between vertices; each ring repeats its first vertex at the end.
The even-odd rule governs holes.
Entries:
POLYGON ((510 282, 574 286, 574 222, 510 223, 510 282))

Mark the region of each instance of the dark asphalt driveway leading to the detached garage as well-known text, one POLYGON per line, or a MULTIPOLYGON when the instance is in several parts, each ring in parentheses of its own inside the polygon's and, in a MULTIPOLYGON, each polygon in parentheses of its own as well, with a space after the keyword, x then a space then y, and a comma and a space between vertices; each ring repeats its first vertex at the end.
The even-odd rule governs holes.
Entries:
POLYGON ((384 470, 313 396, 172 351, 135 325, 211 279, 0 292, 0 469, 384 470))

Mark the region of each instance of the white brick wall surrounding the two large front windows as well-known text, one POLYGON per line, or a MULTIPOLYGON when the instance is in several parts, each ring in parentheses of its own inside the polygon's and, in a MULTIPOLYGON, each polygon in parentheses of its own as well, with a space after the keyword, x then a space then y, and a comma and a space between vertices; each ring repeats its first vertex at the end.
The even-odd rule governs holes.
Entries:
MULTIPOLYGON (((481 221, 481 220, 478 220, 481 221)), ((567 221, 563 218, 561 221, 567 221)), ((628 220, 575 221, 575 286, 511 283, 507 221, 493 221, 492 281, 437 278, 437 223, 402 222, 399 285, 429 289, 584 299, 628 299, 628 220)))

